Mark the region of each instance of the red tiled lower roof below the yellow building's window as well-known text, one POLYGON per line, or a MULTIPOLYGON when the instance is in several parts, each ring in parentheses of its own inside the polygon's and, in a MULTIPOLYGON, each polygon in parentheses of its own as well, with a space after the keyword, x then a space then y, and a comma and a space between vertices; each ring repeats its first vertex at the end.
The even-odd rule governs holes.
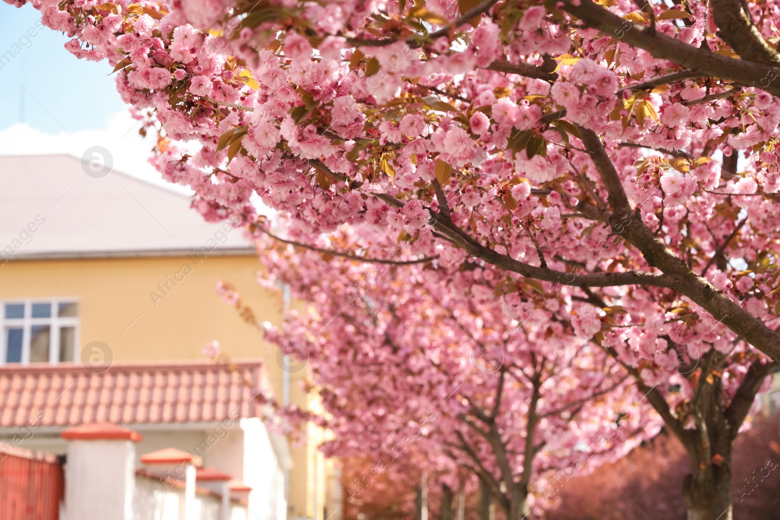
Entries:
POLYGON ((0 427, 215 423, 260 415, 261 361, 0 366, 0 427))

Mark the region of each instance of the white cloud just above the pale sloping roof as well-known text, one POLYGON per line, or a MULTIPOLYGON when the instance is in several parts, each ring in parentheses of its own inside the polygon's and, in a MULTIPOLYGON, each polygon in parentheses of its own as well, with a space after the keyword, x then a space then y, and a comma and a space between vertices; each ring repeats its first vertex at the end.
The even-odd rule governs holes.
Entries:
POLYGON ((118 112, 105 129, 58 134, 43 133, 27 123, 17 123, 0 130, 0 155, 70 154, 82 157, 90 147, 104 147, 112 155, 113 169, 179 193, 191 194, 190 189, 172 185, 148 163, 154 136, 139 135, 140 122, 129 111, 118 112))

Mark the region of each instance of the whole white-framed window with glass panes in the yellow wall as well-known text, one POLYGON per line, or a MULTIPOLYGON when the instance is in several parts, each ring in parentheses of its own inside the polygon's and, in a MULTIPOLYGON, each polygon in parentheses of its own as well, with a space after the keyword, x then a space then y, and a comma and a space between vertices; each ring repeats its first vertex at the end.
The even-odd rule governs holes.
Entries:
POLYGON ((73 300, 5 302, 2 363, 75 361, 79 304, 73 300))

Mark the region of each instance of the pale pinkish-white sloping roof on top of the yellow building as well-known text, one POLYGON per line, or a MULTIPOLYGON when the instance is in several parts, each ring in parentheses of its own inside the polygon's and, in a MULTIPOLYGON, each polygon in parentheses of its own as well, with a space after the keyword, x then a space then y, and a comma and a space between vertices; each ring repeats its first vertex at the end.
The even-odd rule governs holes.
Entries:
POLYGON ((204 221, 188 196, 121 172, 100 178, 87 172, 89 164, 71 155, 0 157, 0 264, 204 247, 210 254, 254 253, 242 230, 225 233, 226 221, 204 221))

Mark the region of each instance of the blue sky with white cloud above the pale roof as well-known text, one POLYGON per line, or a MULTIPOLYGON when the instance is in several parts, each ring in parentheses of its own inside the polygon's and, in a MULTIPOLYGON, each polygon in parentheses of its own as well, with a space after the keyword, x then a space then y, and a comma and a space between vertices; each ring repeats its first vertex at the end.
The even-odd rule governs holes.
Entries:
POLYGON ((68 38, 39 20, 31 5, 0 2, 0 155, 83 157, 99 146, 113 169, 171 186, 147 162, 154 140, 138 135, 112 66, 71 55, 62 47, 68 38))

